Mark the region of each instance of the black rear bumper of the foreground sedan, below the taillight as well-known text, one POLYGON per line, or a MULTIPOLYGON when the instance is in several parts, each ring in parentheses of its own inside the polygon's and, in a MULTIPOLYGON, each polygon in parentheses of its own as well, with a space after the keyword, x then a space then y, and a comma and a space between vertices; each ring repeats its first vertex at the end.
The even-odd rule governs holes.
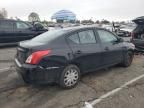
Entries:
POLYGON ((43 68, 38 65, 21 64, 15 59, 16 70, 26 83, 48 84, 58 83, 63 68, 43 68))

